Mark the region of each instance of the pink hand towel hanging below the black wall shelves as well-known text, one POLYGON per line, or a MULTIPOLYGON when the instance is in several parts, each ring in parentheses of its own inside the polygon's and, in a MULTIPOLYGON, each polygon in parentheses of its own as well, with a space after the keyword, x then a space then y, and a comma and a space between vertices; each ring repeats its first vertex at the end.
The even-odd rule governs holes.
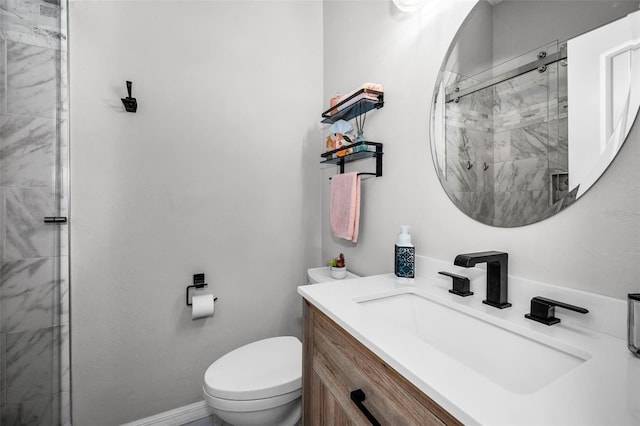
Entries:
POLYGON ((358 241, 360 225, 360 177, 336 175, 331 180, 331 230, 338 238, 358 241))

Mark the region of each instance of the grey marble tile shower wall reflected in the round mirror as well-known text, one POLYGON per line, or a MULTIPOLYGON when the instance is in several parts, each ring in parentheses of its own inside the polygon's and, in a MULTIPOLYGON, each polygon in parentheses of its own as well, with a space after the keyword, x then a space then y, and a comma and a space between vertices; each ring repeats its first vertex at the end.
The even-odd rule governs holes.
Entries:
POLYGON ((566 195, 558 185, 567 173, 564 67, 551 64, 449 103, 446 123, 447 181, 459 207, 496 226, 553 214, 566 195))

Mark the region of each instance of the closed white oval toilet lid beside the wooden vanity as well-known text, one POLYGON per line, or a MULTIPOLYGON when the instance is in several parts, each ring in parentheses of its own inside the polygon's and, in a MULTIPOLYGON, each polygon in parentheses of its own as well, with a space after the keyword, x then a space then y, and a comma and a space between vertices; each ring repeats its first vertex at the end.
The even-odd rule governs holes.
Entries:
POLYGON ((219 358, 204 374, 206 392, 246 401, 271 398, 302 387, 302 343, 293 336, 249 343, 219 358))

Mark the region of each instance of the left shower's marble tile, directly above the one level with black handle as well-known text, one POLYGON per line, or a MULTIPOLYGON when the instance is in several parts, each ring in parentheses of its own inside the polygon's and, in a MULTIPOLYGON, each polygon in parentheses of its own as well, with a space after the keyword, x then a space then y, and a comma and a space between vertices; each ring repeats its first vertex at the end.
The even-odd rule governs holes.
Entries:
POLYGON ((50 188, 57 154, 55 120, 10 116, 0 124, 2 185, 50 188))

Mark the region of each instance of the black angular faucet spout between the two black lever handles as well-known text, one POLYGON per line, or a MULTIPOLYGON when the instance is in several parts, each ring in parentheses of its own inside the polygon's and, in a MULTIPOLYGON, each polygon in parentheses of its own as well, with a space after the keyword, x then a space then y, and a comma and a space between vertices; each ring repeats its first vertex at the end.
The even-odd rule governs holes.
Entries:
POLYGON ((478 263, 487 264, 487 298, 482 301, 495 308, 504 309, 511 306, 507 302, 507 277, 509 274, 509 255, 501 251, 482 251, 478 253, 459 254, 453 261, 456 266, 471 268, 478 263))

